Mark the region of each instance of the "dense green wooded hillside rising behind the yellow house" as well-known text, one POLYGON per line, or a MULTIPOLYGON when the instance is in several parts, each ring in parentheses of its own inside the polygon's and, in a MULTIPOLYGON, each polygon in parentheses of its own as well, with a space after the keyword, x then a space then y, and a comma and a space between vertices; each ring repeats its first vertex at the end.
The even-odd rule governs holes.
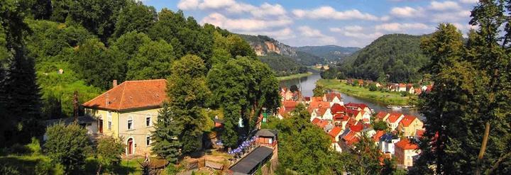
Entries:
MULTIPOLYGON (((114 79, 119 83, 163 79, 171 73, 172 63, 185 55, 197 55, 207 69, 238 56, 256 59, 250 45, 239 35, 210 24, 200 25, 182 11, 162 9, 157 12, 153 6, 145 6, 140 1, 48 1, 50 6, 36 1, 8 2, 9 8, 18 8, 16 11, 26 16, 16 16, 18 21, 24 21, 11 22, 18 25, 13 24, 16 28, 5 27, 12 16, 1 23, 0 85, 8 82, 4 79, 17 75, 9 73, 16 73, 16 69, 23 69, 26 72, 23 76, 30 78, 18 78, 23 81, 0 86, 0 90, 12 87, 4 90, 13 92, 26 88, 32 93, 33 96, 23 97, 24 101, 10 102, 21 112, 23 108, 18 106, 28 101, 25 98, 33 98, 35 102, 26 106, 34 106, 40 95, 40 114, 44 119, 71 116, 74 91, 79 93, 79 103, 84 103, 110 89, 114 79), (31 8, 23 9, 27 6, 31 8), (95 8, 86 8, 91 6, 95 8), (8 33, 11 28, 12 33, 8 33), (21 35, 17 37, 21 39, 13 41, 13 33, 21 35), (9 52, 14 50, 9 45, 15 44, 26 46, 15 49, 22 53, 16 57, 27 58, 28 63, 11 62, 19 60, 9 52), (35 65, 29 64, 31 62, 35 65), (34 74, 35 77, 31 77, 34 74), (33 86, 29 86, 26 82, 29 79, 37 79, 36 84, 33 82, 33 86)), ((1 91, 0 94, 3 95, 1 91)), ((21 116, 21 112, 12 116, 21 116)))

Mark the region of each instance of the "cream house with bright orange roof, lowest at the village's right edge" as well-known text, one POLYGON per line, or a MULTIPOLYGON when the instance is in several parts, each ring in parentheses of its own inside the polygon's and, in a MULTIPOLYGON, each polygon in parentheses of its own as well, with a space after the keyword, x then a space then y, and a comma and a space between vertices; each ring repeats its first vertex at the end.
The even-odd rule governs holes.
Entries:
POLYGON ((397 164, 410 167, 413 166, 413 157, 420 153, 419 146, 404 139, 395 143, 395 157, 397 164))

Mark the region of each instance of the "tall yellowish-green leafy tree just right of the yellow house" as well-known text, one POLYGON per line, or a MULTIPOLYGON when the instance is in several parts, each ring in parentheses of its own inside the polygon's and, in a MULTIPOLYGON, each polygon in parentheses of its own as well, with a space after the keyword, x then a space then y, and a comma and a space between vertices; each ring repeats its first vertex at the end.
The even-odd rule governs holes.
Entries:
POLYGON ((195 55, 186 55, 172 64, 168 77, 167 94, 172 114, 182 130, 178 136, 182 153, 188 154, 202 146, 202 125, 205 123, 201 108, 209 96, 206 85, 206 65, 195 55))

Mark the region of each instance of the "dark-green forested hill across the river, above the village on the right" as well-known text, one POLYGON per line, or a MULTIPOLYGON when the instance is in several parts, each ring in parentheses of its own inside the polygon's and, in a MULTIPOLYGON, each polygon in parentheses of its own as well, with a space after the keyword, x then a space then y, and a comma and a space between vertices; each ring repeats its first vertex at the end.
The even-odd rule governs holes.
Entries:
POLYGON ((343 62, 324 72, 323 77, 359 78, 378 81, 414 82, 428 59, 419 45, 423 35, 389 34, 370 43, 343 62))

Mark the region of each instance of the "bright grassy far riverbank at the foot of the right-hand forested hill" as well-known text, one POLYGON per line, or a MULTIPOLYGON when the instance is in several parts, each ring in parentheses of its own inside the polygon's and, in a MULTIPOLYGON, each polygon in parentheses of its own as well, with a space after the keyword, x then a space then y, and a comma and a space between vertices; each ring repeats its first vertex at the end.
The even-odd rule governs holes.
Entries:
POLYGON ((319 79, 316 84, 322 85, 326 89, 340 91, 348 96, 355 96, 368 101, 382 103, 385 106, 407 106, 413 105, 414 101, 417 101, 417 96, 401 96, 401 94, 397 93, 369 91, 369 89, 351 86, 336 79, 319 79))

